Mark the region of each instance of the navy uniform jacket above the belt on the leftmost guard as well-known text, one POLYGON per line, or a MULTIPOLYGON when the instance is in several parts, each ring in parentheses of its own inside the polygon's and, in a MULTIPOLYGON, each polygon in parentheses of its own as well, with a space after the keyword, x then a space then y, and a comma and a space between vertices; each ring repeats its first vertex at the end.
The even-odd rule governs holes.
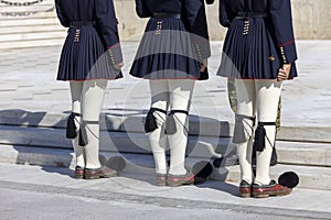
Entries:
POLYGON ((74 21, 94 21, 105 50, 114 55, 113 63, 122 62, 113 0, 55 0, 57 16, 63 26, 74 21))

